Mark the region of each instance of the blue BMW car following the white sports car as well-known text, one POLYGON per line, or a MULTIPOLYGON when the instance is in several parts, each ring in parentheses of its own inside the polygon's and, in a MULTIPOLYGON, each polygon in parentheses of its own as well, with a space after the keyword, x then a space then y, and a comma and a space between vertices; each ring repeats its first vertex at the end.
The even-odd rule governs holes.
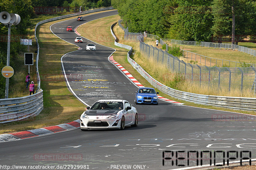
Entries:
POLYGON ((136 104, 147 103, 147 104, 158 104, 158 92, 155 89, 150 87, 142 87, 138 91, 135 91, 135 100, 136 104))

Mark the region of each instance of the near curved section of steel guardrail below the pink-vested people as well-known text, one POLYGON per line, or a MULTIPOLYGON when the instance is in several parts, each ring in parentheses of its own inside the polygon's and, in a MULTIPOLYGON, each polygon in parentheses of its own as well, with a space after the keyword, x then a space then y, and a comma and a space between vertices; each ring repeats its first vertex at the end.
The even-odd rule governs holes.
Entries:
POLYGON ((34 117, 43 108, 43 90, 30 96, 0 99, 0 124, 34 117))

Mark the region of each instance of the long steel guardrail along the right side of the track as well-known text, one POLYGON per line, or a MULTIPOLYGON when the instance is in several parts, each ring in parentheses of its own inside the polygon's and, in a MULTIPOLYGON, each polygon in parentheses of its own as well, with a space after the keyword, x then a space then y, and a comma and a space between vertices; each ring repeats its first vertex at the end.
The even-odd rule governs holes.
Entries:
POLYGON ((148 82, 152 84, 152 86, 159 89, 163 93, 169 96, 172 96, 176 99, 197 103, 197 104, 223 107, 223 108, 236 109, 236 110, 256 111, 256 98, 200 95, 200 94, 189 93, 189 92, 172 89, 156 81, 143 68, 141 68, 138 63, 136 63, 134 60, 130 58, 130 53, 132 50, 131 46, 126 47, 126 45, 124 46, 123 44, 116 42, 116 36, 112 31, 113 26, 114 25, 111 26, 111 33, 115 38, 115 45, 129 49, 130 51, 127 53, 127 60, 132 65, 132 67, 134 67, 145 79, 147 79, 148 82))

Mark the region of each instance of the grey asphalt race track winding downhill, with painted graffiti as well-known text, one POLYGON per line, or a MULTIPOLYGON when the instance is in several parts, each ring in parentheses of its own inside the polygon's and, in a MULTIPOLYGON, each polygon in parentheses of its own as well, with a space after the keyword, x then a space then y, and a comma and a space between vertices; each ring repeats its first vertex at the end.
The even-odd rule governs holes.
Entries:
MULTIPOLYGON (((80 36, 67 32, 67 26, 75 28, 116 14, 117 11, 102 12, 85 16, 84 21, 79 22, 71 19, 52 25, 51 30, 61 39, 75 44, 74 39, 80 36)), ((115 50, 83 39, 84 43, 76 44, 81 50, 62 58, 68 88, 88 105, 99 99, 130 101, 138 110, 138 127, 126 127, 124 131, 74 129, 1 142, 1 165, 27 166, 16 169, 48 166, 48 169, 167 170, 183 167, 181 165, 200 165, 201 160, 203 165, 223 163, 223 159, 227 162, 228 156, 230 162, 240 160, 241 155, 242 159, 249 159, 250 152, 247 151, 251 151, 252 159, 256 158, 255 117, 161 100, 158 105, 135 105, 134 92, 138 87, 108 60, 115 50), (96 44, 96 51, 86 51, 88 43, 96 44)), ((115 59, 115 53, 113 55, 115 59)))

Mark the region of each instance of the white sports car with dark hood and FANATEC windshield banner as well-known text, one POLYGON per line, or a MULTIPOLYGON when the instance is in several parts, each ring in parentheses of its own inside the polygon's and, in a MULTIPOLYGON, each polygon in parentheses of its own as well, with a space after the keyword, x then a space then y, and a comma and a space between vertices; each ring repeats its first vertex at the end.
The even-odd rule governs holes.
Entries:
POLYGON ((80 129, 121 129, 138 126, 138 113, 126 100, 98 100, 80 117, 80 129))

